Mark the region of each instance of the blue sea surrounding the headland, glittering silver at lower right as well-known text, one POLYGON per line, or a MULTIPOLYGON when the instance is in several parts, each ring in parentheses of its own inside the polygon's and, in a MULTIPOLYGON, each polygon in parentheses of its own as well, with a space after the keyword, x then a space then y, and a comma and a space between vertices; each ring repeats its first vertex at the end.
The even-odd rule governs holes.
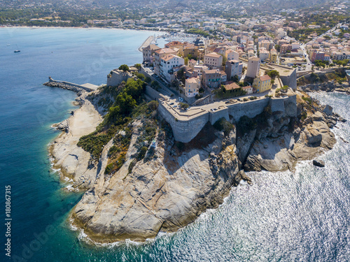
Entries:
MULTIPOLYGON (((88 245, 66 222, 81 195, 66 193, 51 170, 50 126, 69 117, 75 94, 42 86, 48 76, 95 85, 120 64, 135 64, 153 32, 0 28, 0 241, 6 248, 5 187, 11 188, 11 256, 0 261, 350 261, 350 122, 338 143, 295 173, 250 173, 216 210, 146 243, 88 245), (14 50, 21 50, 14 53, 14 50)), ((164 44, 164 43, 162 43, 164 44)), ((162 46, 162 45, 161 45, 162 46)), ((349 96, 312 94, 350 119, 349 96)))

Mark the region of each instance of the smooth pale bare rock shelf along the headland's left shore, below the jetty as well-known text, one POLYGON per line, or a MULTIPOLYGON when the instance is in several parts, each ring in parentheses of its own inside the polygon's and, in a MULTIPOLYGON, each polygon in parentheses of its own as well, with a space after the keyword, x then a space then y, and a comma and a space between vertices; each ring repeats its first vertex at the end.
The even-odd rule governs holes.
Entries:
POLYGON ((74 184, 82 187, 90 187, 96 179, 97 167, 89 166, 90 153, 85 152, 76 144, 81 136, 92 133, 97 125, 102 122, 102 116, 94 108, 94 105, 85 97, 84 92, 80 99, 85 103, 74 111, 69 119, 64 120, 62 125, 68 126, 68 132, 61 133, 49 147, 50 157, 53 159, 55 169, 60 169, 63 177, 69 177, 74 184))

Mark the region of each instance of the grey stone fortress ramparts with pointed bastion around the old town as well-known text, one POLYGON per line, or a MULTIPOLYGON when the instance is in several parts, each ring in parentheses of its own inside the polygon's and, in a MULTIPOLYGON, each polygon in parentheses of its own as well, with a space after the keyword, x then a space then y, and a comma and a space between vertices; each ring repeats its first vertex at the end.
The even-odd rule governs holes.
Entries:
MULTIPOLYGON (((123 80, 126 81, 127 78, 132 77, 131 74, 121 71, 114 70, 112 72, 111 77, 107 80, 107 85, 119 85, 123 80)), ((296 87, 295 72, 295 70, 288 72, 288 75, 285 76, 286 79, 281 79, 284 85, 289 84, 292 88, 296 87)), ((183 143, 188 143, 195 138, 207 122, 214 124, 222 117, 228 121, 231 117, 235 122, 238 122, 244 115, 251 118, 259 115, 267 105, 270 105, 272 112, 283 112, 289 117, 297 116, 296 95, 282 98, 262 97, 245 102, 237 101, 232 104, 220 105, 215 111, 197 108, 193 110, 194 112, 192 110, 189 110, 191 112, 179 112, 167 103, 167 96, 163 96, 152 87, 146 87, 146 94, 151 99, 158 99, 158 112, 172 126, 175 140, 183 143)))

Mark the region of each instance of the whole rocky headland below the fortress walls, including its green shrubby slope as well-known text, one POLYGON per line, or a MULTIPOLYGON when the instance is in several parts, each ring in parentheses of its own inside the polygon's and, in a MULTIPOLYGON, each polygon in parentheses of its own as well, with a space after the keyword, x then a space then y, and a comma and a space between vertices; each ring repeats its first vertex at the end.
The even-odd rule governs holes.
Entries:
POLYGON ((104 119, 74 141, 75 128, 68 124, 52 144, 55 167, 73 187, 87 190, 71 219, 91 240, 144 241, 176 231, 218 207, 241 180, 251 183, 244 170, 293 170, 297 161, 313 159, 336 143, 330 126, 339 116, 291 89, 286 95, 296 96, 294 109, 288 103, 281 111, 267 105, 253 118, 207 122, 195 138, 181 143, 158 113, 161 101, 149 97, 155 90, 150 94, 146 86, 130 78, 118 87, 81 92, 79 110, 104 119), (66 168, 69 161, 76 161, 75 168, 66 168))

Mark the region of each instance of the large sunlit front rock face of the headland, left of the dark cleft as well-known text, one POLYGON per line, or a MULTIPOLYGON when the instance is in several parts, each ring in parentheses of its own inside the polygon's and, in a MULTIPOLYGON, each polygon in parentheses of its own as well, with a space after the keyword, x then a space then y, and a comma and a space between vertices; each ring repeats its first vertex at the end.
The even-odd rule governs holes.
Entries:
MULTIPOLYGON (((134 122, 133 137, 138 125, 134 122)), ((128 174, 132 140, 123 167, 112 177, 97 179, 74 208, 73 223, 98 242, 143 241, 159 231, 176 231, 207 208, 218 207, 232 185, 246 177, 239 173, 235 132, 225 139, 217 132, 213 139, 202 149, 180 152, 171 138, 158 138, 153 159, 137 162, 128 174)))

